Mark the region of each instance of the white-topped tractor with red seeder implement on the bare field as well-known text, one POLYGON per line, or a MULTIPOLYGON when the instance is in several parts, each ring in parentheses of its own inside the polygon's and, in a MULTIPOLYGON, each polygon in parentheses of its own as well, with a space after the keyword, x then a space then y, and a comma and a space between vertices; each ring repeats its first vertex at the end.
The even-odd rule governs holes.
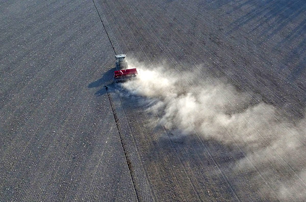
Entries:
POLYGON ((138 74, 136 68, 129 69, 125 57, 125 54, 116 55, 116 71, 114 71, 114 80, 116 83, 133 79, 138 74))

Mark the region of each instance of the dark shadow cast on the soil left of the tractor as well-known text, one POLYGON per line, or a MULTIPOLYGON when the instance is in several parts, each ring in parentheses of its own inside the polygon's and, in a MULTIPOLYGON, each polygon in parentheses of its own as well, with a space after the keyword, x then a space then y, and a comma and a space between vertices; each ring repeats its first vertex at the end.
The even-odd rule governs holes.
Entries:
POLYGON ((88 88, 100 88, 98 91, 95 92, 94 95, 96 96, 101 96, 106 94, 106 89, 105 86, 106 85, 114 85, 113 84, 113 75, 114 75, 114 71, 116 70, 116 68, 112 68, 110 70, 108 70, 107 72, 105 72, 101 78, 97 79, 96 81, 93 81, 91 83, 88 84, 88 88))

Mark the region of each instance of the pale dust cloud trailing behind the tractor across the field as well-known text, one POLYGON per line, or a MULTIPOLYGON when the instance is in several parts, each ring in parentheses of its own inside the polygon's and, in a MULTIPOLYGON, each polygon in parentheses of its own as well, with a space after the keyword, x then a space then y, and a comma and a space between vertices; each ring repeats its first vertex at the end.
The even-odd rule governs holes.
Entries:
POLYGON ((140 73, 121 85, 151 100, 147 110, 159 117, 160 126, 177 136, 199 134, 235 145, 244 158, 235 162, 234 169, 258 172, 257 177, 266 182, 260 191, 273 192, 284 201, 306 199, 305 120, 293 124, 274 106, 253 102, 221 79, 197 80, 196 73, 129 63, 140 73))

